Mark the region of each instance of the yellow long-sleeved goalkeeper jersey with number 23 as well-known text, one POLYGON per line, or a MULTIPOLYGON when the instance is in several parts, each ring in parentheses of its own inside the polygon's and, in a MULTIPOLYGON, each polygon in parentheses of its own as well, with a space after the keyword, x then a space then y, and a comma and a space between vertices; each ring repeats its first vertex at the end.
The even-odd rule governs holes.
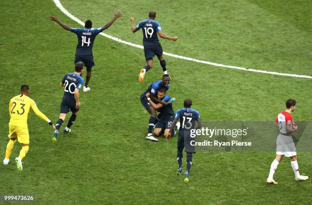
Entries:
POLYGON ((30 109, 36 113, 38 117, 49 122, 50 120, 40 112, 33 99, 24 94, 16 95, 12 97, 9 105, 10 123, 9 125, 15 125, 18 127, 28 127, 27 118, 30 109))

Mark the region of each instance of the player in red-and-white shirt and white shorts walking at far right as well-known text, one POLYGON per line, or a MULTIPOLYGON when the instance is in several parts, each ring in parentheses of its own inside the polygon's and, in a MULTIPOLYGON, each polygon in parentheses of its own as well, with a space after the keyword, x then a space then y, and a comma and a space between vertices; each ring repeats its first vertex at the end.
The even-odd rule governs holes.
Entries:
POLYGON ((277 184, 277 182, 273 179, 273 175, 277 165, 282 160, 283 155, 285 155, 285 157, 290 157, 296 181, 305 181, 309 178, 308 176, 304 176, 304 174, 299 174, 299 166, 297 162, 298 157, 296 147, 292 139, 292 133, 298 128, 291 115, 295 108, 296 100, 288 99, 286 101, 286 110, 280 112, 275 119, 274 125, 279 127, 279 134, 276 140, 276 157, 271 164, 269 177, 267 179, 268 184, 277 184))

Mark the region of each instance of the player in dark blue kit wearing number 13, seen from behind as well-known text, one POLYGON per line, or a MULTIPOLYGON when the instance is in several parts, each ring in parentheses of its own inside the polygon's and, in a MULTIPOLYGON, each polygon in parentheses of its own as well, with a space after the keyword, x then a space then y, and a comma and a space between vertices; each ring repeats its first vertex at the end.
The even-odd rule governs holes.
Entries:
POLYGON ((176 171, 177 175, 180 175, 183 171, 182 167, 182 158, 183 158, 183 148, 185 147, 185 151, 187 153, 187 170, 184 174, 184 182, 188 183, 190 179, 190 169, 192 165, 192 154, 195 152, 195 146, 191 145, 191 141, 195 140, 195 138, 191 138, 190 132, 191 129, 194 129, 195 127, 195 121, 197 122, 196 129, 199 129, 201 127, 201 121, 199 117, 199 113, 196 110, 191 109, 192 106, 192 100, 186 98, 184 100, 184 109, 179 109, 176 111, 175 118, 172 122, 172 126, 170 130, 168 131, 166 135, 166 140, 171 138, 171 132, 172 129, 177 124, 177 121, 180 119, 180 122, 182 122, 179 134, 178 134, 178 140, 177 140, 177 162, 179 165, 179 168, 176 171))

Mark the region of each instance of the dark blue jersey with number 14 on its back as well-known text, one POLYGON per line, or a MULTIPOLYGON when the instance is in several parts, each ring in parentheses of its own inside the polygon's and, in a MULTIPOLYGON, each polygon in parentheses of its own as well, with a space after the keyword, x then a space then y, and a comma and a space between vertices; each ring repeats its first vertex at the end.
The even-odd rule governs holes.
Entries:
POLYGON ((71 32, 76 33, 78 44, 76 55, 92 55, 93 42, 98 33, 103 31, 101 28, 70 28, 71 32))

